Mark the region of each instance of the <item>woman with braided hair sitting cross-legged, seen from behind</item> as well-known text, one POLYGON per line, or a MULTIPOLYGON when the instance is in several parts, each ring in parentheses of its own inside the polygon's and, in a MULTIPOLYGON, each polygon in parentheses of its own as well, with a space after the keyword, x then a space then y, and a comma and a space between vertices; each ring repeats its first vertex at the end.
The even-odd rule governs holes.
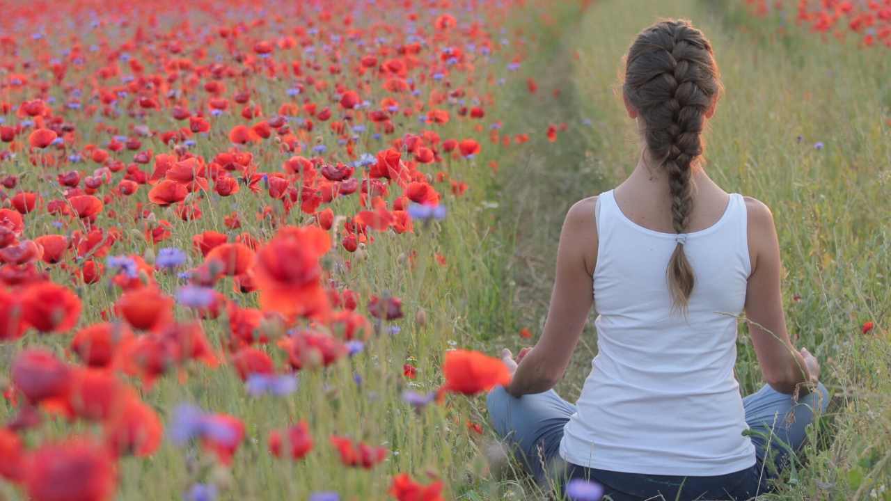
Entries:
POLYGON ((770 209, 699 161, 722 88, 706 37, 659 22, 625 64, 641 158, 569 209, 544 333, 519 365, 504 350, 515 374, 489 394, 491 421, 540 481, 590 479, 615 501, 755 497, 826 408, 820 365, 789 341, 770 209), (598 354, 574 406, 552 387, 595 302, 598 354), (733 373, 743 310, 767 382, 746 398, 733 373))

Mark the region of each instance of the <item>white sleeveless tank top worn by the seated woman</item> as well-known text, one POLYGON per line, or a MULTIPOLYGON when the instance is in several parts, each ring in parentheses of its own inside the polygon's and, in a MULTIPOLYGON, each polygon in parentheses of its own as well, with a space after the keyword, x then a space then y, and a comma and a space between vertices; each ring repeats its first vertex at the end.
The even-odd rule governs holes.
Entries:
POLYGON ((597 356, 564 428, 560 456, 613 472, 710 476, 755 464, 733 374, 751 264, 747 212, 732 193, 713 226, 687 234, 695 285, 672 312, 666 266, 677 242, 637 225, 613 191, 597 201, 597 356))

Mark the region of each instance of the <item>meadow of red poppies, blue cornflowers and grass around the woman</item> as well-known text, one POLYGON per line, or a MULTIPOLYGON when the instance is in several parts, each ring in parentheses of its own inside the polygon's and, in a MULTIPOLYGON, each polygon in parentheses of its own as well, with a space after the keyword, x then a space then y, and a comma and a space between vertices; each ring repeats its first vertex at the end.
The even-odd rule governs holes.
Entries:
MULTIPOLYGON (((467 381, 491 367, 455 354, 535 341, 566 210, 637 158, 621 57, 671 16, 715 45, 726 91, 707 168, 772 208, 789 330, 833 394, 764 499, 891 499, 891 49, 796 14, 706 0, 13 10, 0 499, 546 498, 491 471, 478 394, 495 380, 467 381), (94 463, 39 465, 66 454, 94 463)), ((565 398, 595 347, 586 327, 565 398)), ((743 321, 739 352, 756 390, 743 321)))

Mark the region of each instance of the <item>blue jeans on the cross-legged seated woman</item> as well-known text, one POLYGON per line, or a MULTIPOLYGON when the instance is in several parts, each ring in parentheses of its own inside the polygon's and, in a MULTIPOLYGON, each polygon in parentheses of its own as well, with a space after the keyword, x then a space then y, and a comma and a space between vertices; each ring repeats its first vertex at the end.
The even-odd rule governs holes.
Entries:
POLYGON ((805 428, 829 403, 822 385, 800 398, 764 385, 743 398, 749 439, 755 445, 756 464, 740 472, 711 477, 650 475, 609 472, 567 464, 560 457, 563 426, 576 406, 554 390, 513 398, 502 387, 492 390, 486 400, 489 420, 498 435, 514 449, 527 472, 540 483, 584 478, 600 483, 613 501, 661 499, 732 499, 742 501, 768 490, 767 480, 775 478, 789 464, 789 451, 797 451, 805 441, 805 428), (661 496, 661 497, 659 497, 661 496))

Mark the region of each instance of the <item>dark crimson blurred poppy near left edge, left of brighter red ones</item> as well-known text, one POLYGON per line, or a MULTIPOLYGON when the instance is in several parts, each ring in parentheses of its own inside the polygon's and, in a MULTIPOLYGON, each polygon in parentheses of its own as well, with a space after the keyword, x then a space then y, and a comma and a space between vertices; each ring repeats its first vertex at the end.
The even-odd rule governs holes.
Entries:
POLYGON ((37 404, 49 398, 65 398, 71 388, 71 369, 45 349, 26 349, 12 362, 12 384, 37 404))

